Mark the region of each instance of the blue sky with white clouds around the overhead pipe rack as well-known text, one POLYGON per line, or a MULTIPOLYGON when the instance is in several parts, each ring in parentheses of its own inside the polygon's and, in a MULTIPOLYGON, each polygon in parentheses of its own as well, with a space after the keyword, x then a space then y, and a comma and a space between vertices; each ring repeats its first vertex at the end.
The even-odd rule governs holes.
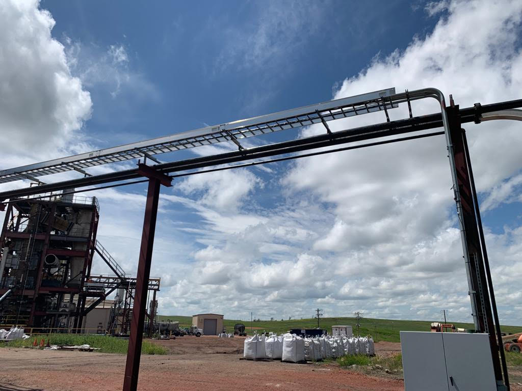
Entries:
MULTIPOLYGON (((11 149, 1 166, 389 87, 437 87, 462 107, 519 99, 521 19, 521 5, 507 0, 7 2, 0 88, 10 93, 0 119, 11 149)), ((437 105, 416 102, 413 111, 437 105)), ((507 121, 466 130, 501 319, 520 324, 522 132, 507 121)), ((145 187, 92 195, 100 241, 135 273, 145 187)), ((280 319, 319 306, 326 316, 438 320, 446 309, 450 320, 471 320, 442 139, 176 180, 162 193, 152 274, 162 277, 164 314, 280 319)))

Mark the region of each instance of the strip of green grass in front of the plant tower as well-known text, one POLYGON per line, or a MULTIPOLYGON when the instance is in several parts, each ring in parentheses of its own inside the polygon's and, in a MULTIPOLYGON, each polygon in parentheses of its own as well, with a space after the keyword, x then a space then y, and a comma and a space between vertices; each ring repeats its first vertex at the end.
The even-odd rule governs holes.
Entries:
MULTIPOLYGON (((128 340, 123 338, 111 337, 106 335, 94 335, 94 334, 45 334, 32 336, 29 339, 17 339, 9 341, 8 343, 0 343, 0 347, 14 347, 21 348, 23 346, 32 346, 34 338, 37 338, 38 344, 40 340, 45 339, 47 343, 49 339, 50 345, 62 345, 62 346, 77 346, 77 345, 90 345, 92 348, 100 348, 102 353, 120 353, 122 355, 127 354, 128 340)), ((162 346, 151 344, 149 341, 144 340, 141 346, 141 354, 143 355, 164 355, 167 353, 167 349, 162 346)))

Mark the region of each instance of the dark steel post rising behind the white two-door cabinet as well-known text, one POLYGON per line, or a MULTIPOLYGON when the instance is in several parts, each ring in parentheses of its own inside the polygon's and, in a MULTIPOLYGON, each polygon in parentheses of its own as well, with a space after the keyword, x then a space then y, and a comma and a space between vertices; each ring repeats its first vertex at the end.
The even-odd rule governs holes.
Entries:
MULTIPOLYGON (((502 370, 499 358, 499 346, 497 346, 491 301, 488 291, 488 280, 485 276, 484 259, 479 237, 477 215, 474 208, 473 192, 471 189, 471 178, 468 169, 468 161, 460 127, 460 116, 458 105, 447 107, 449 130, 453 143, 453 156, 457 174, 457 186, 460 193, 461 211, 458 216, 461 225, 465 229, 466 247, 468 250, 469 271, 472 286, 470 287, 470 298, 472 308, 476 308, 477 331, 487 333, 490 340, 493 369, 497 384, 502 383, 502 370), (473 303, 474 302, 474 303, 473 303)), ((466 257, 465 257, 466 258, 466 257)))

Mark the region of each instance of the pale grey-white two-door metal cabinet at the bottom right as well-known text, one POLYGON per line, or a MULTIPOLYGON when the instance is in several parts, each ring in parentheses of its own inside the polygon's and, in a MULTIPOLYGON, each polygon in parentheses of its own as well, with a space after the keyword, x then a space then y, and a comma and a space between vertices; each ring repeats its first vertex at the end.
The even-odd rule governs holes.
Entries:
POLYGON ((406 391, 496 391, 487 334, 400 332, 406 391))

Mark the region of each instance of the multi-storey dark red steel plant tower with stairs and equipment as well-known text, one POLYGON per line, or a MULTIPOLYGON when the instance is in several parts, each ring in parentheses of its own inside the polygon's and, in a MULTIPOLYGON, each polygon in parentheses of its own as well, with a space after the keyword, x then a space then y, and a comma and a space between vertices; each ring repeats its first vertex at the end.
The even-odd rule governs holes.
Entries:
MULTIPOLYGON (((11 291, 0 303, 0 327, 128 334, 136 278, 129 278, 96 239, 99 218, 96 197, 60 192, 11 200, 0 236, 0 296, 11 291), (114 275, 91 274, 94 253, 114 275), (112 302, 106 301, 111 294, 112 302), (93 316, 96 320, 89 319, 93 316)), ((159 278, 149 279, 149 307, 159 287, 159 278)), ((149 313, 155 311, 148 308, 149 313)))

